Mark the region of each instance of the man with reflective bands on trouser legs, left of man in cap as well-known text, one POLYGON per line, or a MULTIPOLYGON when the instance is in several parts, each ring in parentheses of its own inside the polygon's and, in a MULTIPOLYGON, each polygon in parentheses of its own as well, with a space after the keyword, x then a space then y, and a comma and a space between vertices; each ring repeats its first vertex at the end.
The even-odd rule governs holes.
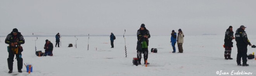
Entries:
POLYGON ((232 42, 233 39, 235 39, 233 28, 232 28, 232 26, 229 26, 229 28, 227 29, 227 31, 225 33, 225 39, 224 39, 224 47, 225 47, 224 57, 226 60, 233 59, 230 57, 231 50, 232 50, 231 48, 233 47, 233 42, 232 42))

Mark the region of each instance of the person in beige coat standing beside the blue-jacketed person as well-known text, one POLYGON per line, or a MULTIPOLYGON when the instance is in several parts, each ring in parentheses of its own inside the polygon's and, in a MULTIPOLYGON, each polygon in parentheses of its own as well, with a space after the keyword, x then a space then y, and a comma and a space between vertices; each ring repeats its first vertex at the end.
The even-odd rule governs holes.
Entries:
POLYGON ((178 44, 178 50, 179 50, 178 53, 183 53, 182 45, 183 45, 184 34, 181 29, 179 29, 178 32, 179 32, 177 37, 177 42, 178 42, 177 44, 178 44))

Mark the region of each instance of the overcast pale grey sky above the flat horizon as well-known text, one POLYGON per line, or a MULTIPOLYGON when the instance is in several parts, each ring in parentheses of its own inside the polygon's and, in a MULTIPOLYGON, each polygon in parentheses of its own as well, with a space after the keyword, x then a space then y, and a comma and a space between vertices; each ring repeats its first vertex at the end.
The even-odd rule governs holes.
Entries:
POLYGON ((0 36, 136 35, 142 23, 151 35, 224 35, 246 26, 256 35, 256 0, 0 0, 0 36))

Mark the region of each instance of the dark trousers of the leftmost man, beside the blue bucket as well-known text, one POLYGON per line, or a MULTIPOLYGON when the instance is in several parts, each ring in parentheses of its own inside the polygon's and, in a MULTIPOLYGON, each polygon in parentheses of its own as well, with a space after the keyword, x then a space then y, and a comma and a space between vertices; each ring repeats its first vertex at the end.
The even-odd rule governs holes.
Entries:
MULTIPOLYGON (((10 52, 9 52, 9 57, 7 58, 7 63, 8 63, 9 70, 12 70, 15 54, 13 54, 11 49, 9 49, 9 50, 10 50, 10 52)), ((22 67, 23 67, 23 59, 21 58, 21 56, 22 56, 21 52, 18 52, 18 54, 16 54, 18 69, 22 69, 22 67)))

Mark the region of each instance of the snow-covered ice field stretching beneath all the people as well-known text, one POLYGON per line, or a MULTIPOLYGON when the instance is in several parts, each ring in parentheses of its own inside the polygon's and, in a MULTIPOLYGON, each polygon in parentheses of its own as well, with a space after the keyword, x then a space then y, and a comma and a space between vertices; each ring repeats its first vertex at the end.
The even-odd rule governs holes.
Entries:
MULTIPOLYGON (((256 36, 248 36, 252 44, 256 43, 256 36)), ((23 66, 22 73, 17 73, 17 60, 14 60, 16 76, 218 76, 217 71, 232 75, 233 72, 251 72, 256 75, 256 60, 248 60, 249 67, 237 66, 237 48, 234 42, 232 48, 233 60, 224 59, 224 36, 186 36, 184 38, 183 54, 171 53, 170 36, 151 36, 149 50, 157 48, 158 53, 149 53, 148 67, 133 66, 132 58, 136 57, 136 36, 125 36, 127 57, 125 57, 125 41, 123 36, 116 36, 114 48, 110 48, 109 36, 78 36, 77 48, 68 44, 75 44, 76 38, 63 37, 61 47, 53 50, 54 56, 37 57, 35 55, 35 37, 24 37, 22 45, 23 63, 31 63, 33 72, 26 73, 23 66), (97 48, 97 50, 96 50, 97 48)), ((38 37, 37 50, 43 50, 45 40, 55 44, 54 37, 38 37)), ((4 40, 2 37, 1 40, 4 40)), ((7 66, 7 44, 0 43, 0 76, 9 76, 7 66)), ((177 48, 177 46, 176 46, 177 48)), ((178 49, 176 49, 178 51, 178 49)), ((248 47, 248 53, 256 48, 248 47)), ((142 63, 144 61, 142 60, 142 63)))

